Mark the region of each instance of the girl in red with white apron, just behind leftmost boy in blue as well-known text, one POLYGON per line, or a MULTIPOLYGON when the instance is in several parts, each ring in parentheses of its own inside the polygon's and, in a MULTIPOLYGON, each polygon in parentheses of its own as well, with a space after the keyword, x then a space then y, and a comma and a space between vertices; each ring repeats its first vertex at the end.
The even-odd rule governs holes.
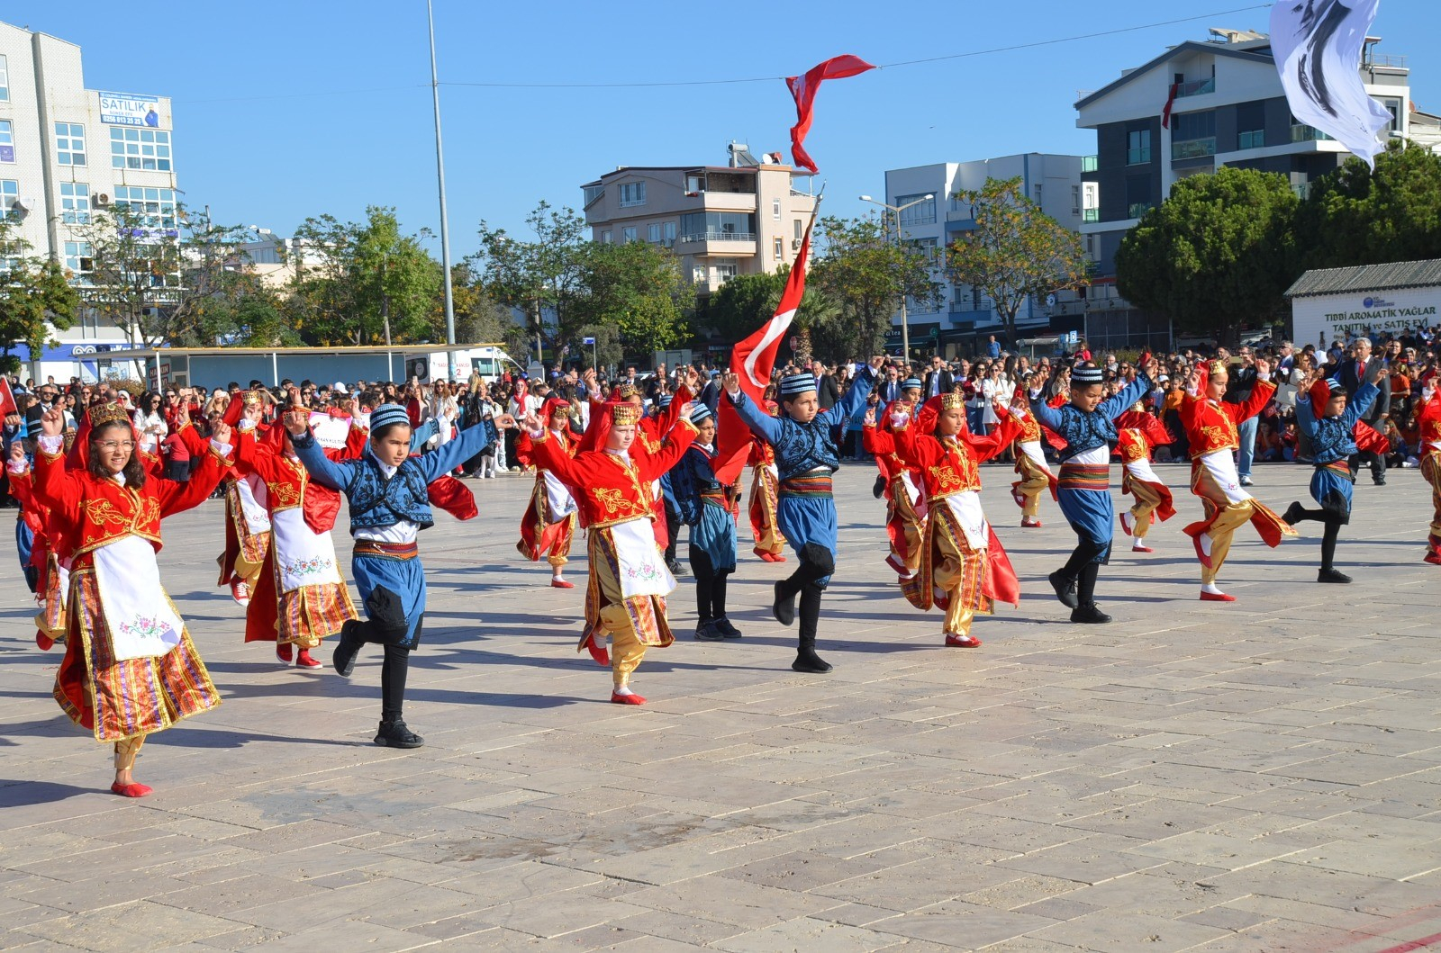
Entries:
POLYGON ((239 423, 235 469, 259 478, 256 497, 271 520, 271 544, 245 612, 246 642, 275 642, 275 656, 298 668, 320 668, 310 651, 359 619, 340 573, 330 530, 340 494, 310 478, 284 428, 256 438, 258 413, 239 423))

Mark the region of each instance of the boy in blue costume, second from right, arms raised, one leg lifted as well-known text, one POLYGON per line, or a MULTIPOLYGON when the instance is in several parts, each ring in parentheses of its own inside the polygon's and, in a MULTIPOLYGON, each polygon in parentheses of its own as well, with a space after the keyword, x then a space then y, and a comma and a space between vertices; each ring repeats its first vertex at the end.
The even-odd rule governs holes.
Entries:
POLYGON ((1120 439, 1115 419, 1151 390, 1157 367, 1153 357, 1136 380, 1102 400, 1101 369, 1089 361, 1076 364, 1071 370, 1071 403, 1061 407, 1030 405, 1036 420, 1065 441, 1058 497, 1078 543, 1066 564, 1050 573, 1050 587, 1071 609, 1072 622, 1101 625, 1111 620, 1095 605, 1095 579, 1101 566, 1111 560, 1115 534, 1111 505, 1111 449, 1120 439))

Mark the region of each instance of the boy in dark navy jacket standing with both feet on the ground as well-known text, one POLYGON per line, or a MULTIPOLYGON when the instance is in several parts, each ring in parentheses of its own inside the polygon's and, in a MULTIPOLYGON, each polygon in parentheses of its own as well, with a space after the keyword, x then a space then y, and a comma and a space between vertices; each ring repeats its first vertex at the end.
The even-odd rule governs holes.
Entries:
POLYGON ((696 638, 706 642, 739 639, 725 613, 726 577, 735 572, 735 487, 716 481, 716 419, 710 407, 695 405, 690 423, 696 441, 670 471, 680 521, 690 527, 690 572, 696 577, 696 638))

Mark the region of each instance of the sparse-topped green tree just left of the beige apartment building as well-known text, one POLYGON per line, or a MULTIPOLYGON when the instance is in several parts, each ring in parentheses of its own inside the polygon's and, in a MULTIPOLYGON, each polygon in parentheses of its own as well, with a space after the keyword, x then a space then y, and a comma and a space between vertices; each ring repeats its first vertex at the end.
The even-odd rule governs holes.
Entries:
POLYGON ((526 223, 536 235, 533 242, 522 242, 504 229, 481 222, 481 249, 465 262, 496 301, 526 312, 532 337, 539 334, 559 347, 585 324, 584 317, 575 314, 576 304, 586 294, 585 219, 574 209, 558 212, 548 202, 540 202, 526 216, 526 223), (555 322, 550 328, 545 327, 546 312, 555 322))

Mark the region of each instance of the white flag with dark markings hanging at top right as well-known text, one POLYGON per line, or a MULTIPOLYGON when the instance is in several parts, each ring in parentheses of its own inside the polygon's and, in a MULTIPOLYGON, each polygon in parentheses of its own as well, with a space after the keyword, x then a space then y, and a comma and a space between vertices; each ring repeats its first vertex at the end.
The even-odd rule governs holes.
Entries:
POLYGON ((1280 0, 1271 7, 1271 52, 1297 119, 1376 167, 1376 135, 1391 114, 1366 95, 1362 46, 1380 0, 1280 0))

